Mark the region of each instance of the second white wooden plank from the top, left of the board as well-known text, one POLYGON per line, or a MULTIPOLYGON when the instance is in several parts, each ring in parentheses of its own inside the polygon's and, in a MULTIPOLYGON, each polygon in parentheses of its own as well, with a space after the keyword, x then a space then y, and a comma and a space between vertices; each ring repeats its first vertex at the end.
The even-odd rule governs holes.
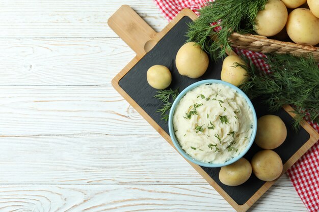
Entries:
POLYGON ((111 85, 135 56, 114 38, 0 39, 0 49, 0 85, 111 85))

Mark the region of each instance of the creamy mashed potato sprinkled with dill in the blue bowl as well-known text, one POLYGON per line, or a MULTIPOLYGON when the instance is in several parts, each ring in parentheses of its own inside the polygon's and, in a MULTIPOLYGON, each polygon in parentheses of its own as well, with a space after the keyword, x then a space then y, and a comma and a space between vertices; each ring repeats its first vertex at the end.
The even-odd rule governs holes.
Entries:
POLYGON ((252 135, 252 110, 235 89, 204 84, 176 106, 173 127, 182 149, 204 163, 225 163, 246 149, 252 135))

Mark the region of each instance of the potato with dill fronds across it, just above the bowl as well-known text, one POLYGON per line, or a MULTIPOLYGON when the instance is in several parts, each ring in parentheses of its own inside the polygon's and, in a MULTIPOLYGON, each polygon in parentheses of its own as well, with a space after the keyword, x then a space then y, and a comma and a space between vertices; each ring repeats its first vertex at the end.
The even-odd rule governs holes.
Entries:
POLYGON ((235 67, 236 63, 245 64, 237 55, 229 55, 224 59, 221 79, 225 82, 238 86, 248 80, 248 73, 240 66, 235 67))

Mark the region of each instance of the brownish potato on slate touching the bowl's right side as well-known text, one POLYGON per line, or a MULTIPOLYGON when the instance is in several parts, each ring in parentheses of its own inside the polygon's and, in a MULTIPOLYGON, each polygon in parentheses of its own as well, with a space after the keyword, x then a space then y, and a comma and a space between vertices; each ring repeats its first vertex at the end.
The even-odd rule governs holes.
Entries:
POLYGON ((264 115, 258 118, 255 142, 263 149, 280 146, 287 137, 285 123, 277 115, 264 115))

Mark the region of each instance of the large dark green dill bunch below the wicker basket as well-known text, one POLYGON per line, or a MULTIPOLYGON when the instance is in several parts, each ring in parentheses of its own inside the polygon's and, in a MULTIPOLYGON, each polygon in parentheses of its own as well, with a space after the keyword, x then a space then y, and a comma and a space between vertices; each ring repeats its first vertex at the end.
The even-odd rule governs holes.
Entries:
POLYGON ((303 118, 319 123, 319 68, 311 55, 297 57, 290 54, 266 54, 264 62, 271 67, 272 73, 266 74, 250 60, 243 57, 247 64, 239 65, 250 75, 249 80, 240 88, 250 98, 260 98, 272 111, 284 105, 295 106, 293 128, 297 130, 303 118))

